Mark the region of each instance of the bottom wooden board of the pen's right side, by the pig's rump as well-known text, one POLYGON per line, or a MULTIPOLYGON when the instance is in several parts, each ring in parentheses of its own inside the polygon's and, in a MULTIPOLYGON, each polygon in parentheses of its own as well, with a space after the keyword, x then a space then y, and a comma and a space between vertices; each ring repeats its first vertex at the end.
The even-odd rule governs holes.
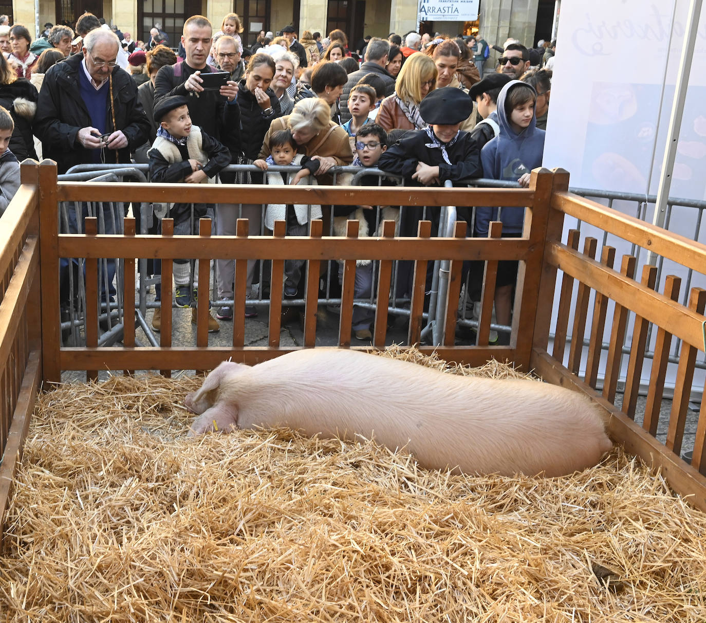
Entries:
POLYGON ((545 381, 579 391, 591 398, 605 414, 606 430, 611 439, 623 444, 626 453, 635 454, 650 468, 659 469, 672 489, 685 497, 689 504, 706 511, 706 477, 684 463, 674 452, 660 444, 605 398, 598 396, 592 388, 571 374, 546 351, 534 349, 530 364, 545 381))

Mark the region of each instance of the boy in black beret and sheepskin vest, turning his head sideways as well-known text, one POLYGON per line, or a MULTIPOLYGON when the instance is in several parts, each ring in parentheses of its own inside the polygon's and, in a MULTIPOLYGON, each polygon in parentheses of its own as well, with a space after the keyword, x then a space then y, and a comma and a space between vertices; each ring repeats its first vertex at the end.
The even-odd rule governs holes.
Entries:
MULTIPOLYGON (((205 184, 213 182, 215 175, 230 164, 230 151, 215 138, 211 138, 198 126, 191 124, 189 100, 181 95, 164 97, 155 105, 155 121, 160 124, 157 138, 147 155, 150 158, 150 177, 152 182, 171 182, 173 184, 205 184)), ((205 203, 193 204, 193 228, 191 203, 169 204, 170 218, 174 219, 175 235, 198 235, 198 219, 209 212, 205 203)), ((160 227, 161 230, 161 227, 160 227)), ((188 259, 174 260, 174 284, 178 307, 191 307, 191 322, 196 324, 196 297, 198 295, 198 268, 193 272, 193 290, 191 266, 188 259)), ((157 290, 159 301, 161 288, 157 290)), ((160 331, 162 314, 155 309, 152 316, 152 328, 160 331)), ((218 321, 209 316, 208 331, 218 331, 218 321)))

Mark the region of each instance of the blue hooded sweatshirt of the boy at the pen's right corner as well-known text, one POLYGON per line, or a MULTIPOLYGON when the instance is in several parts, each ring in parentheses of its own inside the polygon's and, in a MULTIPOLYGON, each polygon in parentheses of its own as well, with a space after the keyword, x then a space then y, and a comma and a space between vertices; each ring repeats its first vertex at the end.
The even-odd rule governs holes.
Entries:
MULTIPOLYGON (((500 133, 481 150, 483 177, 517 182, 523 174, 542 166, 544 130, 537 128, 536 116, 532 117, 527 128, 517 133, 510 126, 510 119, 505 114, 505 99, 510 90, 517 85, 529 86, 519 80, 513 80, 508 82, 498 95, 500 133)), ((477 208, 477 236, 488 235, 491 220, 498 220, 498 208, 477 208)), ((500 220, 503 222, 503 234, 520 234, 525 220, 525 208, 502 208, 500 220)))

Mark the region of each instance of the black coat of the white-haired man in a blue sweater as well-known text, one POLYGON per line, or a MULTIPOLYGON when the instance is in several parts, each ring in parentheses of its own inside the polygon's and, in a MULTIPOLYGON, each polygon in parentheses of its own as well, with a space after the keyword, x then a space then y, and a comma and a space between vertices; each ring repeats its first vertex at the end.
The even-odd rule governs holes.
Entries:
MULTIPOLYGON (((80 97, 78 71, 83 71, 81 61, 83 54, 74 54, 49 67, 37 103, 35 135, 42 141, 44 158, 56 160, 59 173, 65 173, 73 165, 95 161, 95 150, 85 149, 76 141, 81 128, 92 126, 88 108, 80 97)), ((118 150, 118 160, 130 162, 131 151, 147 140, 150 122, 130 74, 116 66, 112 76, 115 126, 108 106, 106 128, 108 131, 123 131, 128 146, 118 150)), ((114 150, 106 151, 109 158, 114 158, 114 150)))

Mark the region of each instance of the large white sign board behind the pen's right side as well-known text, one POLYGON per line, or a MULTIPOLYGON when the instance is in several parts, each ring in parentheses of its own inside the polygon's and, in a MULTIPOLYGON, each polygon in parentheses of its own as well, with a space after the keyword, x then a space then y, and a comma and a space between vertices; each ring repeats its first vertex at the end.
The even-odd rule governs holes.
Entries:
MULTIPOLYGON (((594 0, 563 4, 544 167, 568 170, 571 186, 643 196, 657 194, 688 8, 688 0, 660 3, 594 0)), ((670 196, 703 200, 706 198, 706 73, 703 71, 706 15, 703 13, 691 61, 670 196)), ((633 216, 638 215, 636 206, 635 201, 614 201, 612 205, 633 216)), ((648 206, 644 215, 650 222, 652 210, 653 206, 648 206)), ((575 221, 568 223, 568 227, 574 225, 575 221)), ((705 225, 698 210, 693 208, 674 208, 669 230, 706 242, 705 225)), ((585 224, 581 232, 582 238, 594 236, 599 241, 603 238, 601 230, 585 224)), ((620 266, 621 255, 631 251, 630 244, 614 236, 609 236, 606 242, 616 247, 616 264, 620 266)), ((640 265, 645 263, 646 255, 644 251, 640 254, 640 265)), ((640 273, 638 266, 638 279, 640 273)), ((668 274, 682 278, 679 299, 685 302, 686 269, 666 261, 660 290, 668 274)), ((706 287, 706 278, 693 273, 688 285, 706 287)), ((556 314, 556 305, 554 311, 556 314)), ((655 333, 650 348, 654 346, 655 333)), ((649 367, 646 365, 643 372, 642 380, 646 383, 649 367)), ((670 364, 672 382, 675 369, 670 364)), ((697 376, 697 382, 702 382, 703 371, 698 371, 697 376)))

